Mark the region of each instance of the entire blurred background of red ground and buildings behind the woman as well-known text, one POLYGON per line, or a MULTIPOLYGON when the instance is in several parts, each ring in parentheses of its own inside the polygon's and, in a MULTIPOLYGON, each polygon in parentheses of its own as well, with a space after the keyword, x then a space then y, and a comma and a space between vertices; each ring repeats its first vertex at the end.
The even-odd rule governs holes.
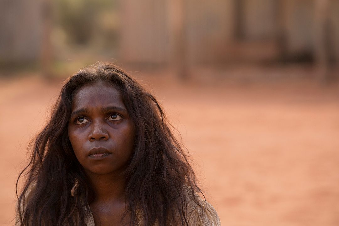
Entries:
POLYGON ((65 78, 125 68, 222 225, 339 225, 338 0, 1 0, 0 224, 65 78))

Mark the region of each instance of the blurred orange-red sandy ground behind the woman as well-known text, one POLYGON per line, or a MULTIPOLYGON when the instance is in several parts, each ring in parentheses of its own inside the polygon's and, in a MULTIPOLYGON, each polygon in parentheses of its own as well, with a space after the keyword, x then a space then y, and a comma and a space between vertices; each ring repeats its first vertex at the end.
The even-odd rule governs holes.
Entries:
MULTIPOLYGON (((339 225, 338 87, 136 76, 180 131, 222 225, 339 225)), ((1 225, 13 225, 27 142, 60 87, 35 76, 0 79, 1 225)))

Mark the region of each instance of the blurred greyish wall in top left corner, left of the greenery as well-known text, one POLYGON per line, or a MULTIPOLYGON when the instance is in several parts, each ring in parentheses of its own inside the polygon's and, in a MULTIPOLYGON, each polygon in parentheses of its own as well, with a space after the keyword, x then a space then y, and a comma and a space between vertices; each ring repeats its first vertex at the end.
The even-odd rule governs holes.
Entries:
POLYGON ((41 51, 41 0, 0 1, 0 61, 32 61, 41 51))

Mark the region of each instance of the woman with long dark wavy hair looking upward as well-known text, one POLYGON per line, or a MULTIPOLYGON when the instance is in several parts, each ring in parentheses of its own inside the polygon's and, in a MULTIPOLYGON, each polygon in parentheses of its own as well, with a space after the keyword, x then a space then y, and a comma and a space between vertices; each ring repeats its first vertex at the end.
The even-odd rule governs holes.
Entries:
POLYGON ((159 103, 113 64, 70 77, 30 147, 17 225, 220 225, 159 103))

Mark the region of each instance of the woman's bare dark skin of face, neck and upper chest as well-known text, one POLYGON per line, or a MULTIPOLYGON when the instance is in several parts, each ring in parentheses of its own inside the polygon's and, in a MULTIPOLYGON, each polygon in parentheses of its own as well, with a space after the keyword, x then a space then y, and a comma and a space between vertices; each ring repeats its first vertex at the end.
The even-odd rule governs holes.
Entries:
POLYGON ((68 137, 96 194, 89 205, 95 225, 122 225, 123 171, 133 155, 135 125, 120 92, 102 82, 82 87, 73 101, 68 137))

